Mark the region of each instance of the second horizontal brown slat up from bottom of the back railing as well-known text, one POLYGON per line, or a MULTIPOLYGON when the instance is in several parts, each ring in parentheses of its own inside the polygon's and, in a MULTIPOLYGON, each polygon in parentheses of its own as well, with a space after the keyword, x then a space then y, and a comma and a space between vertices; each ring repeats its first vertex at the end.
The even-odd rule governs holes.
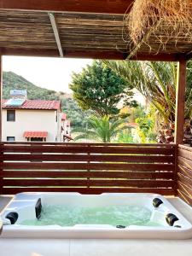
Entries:
MULTIPOLYGON (((14 183, 12 179, 3 179, 3 186, 87 186, 87 179, 15 179, 14 183)), ((167 188, 172 187, 174 182, 172 180, 119 180, 119 179, 90 179, 89 186, 102 187, 140 187, 140 188, 167 188)))

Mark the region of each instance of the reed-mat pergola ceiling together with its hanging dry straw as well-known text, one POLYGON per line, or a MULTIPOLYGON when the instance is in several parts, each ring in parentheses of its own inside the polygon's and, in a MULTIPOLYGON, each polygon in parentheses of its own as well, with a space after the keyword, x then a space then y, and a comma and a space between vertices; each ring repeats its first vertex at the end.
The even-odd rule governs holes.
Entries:
MULTIPOLYGON (((16 1, 8 2, 19 4, 16 1)), ((125 7, 126 1, 117 0, 117 2, 121 3, 121 9, 124 10, 123 4, 125 7)), ((129 4, 131 2, 127 1, 129 4)), ((139 60, 177 61, 180 55, 189 58, 192 51, 191 2, 191 0, 136 0, 136 5, 131 9, 131 15, 127 14, 128 16, 124 13, 110 14, 109 8, 104 9, 108 10, 108 14, 102 13, 101 10, 100 14, 91 11, 90 13, 55 12, 52 15, 64 56, 125 59, 131 55, 132 59, 139 60), (158 3, 171 2, 172 5, 168 5, 171 9, 169 15, 165 6, 164 11, 158 9, 158 3), (176 15, 175 10, 171 8, 174 6, 173 2, 177 3, 179 15, 176 15), (155 4, 155 8, 152 3, 155 4), (186 5, 187 3, 189 5, 186 5), (144 9, 146 6, 149 8, 144 9), (174 15, 170 15, 171 13, 174 15), (175 19, 172 18, 173 16, 175 19), (179 17, 183 19, 182 22, 179 17), (134 19, 137 23, 134 23, 134 19)), ((88 7, 91 9, 91 6, 88 7)), ((0 5, 0 27, 2 54, 60 55, 58 40, 55 40, 49 13, 45 10, 40 12, 31 9, 11 10, 3 9, 0 5)))

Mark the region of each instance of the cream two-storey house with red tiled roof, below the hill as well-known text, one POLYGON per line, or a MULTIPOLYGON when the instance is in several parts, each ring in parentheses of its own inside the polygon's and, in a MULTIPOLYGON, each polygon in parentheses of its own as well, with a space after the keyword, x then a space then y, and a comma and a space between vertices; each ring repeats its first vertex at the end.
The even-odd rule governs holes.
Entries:
POLYGON ((60 101, 3 100, 2 124, 3 141, 54 143, 72 139, 60 101))

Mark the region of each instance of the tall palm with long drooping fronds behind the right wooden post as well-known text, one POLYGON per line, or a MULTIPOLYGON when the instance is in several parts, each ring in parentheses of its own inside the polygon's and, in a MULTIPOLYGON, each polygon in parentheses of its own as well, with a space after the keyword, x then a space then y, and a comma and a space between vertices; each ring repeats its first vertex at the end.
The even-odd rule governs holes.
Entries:
MULTIPOLYGON (((127 84, 137 89, 156 108, 162 142, 174 139, 174 122, 177 90, 177 65, 157 61, 103 61, 118 73, 127 84), (166 128, 166 129, 165 129, 166 128), (166 131, 169 130, 170 131, 166 131), (164 135, 166 131, 166 135, 164 135), (167 137, 165 140, 164 137, 167 137)), ((192 61, 188 63, 185 98, 185 119, 192 115, 192 61)), ((160 141, 161 142, 161 141, 160 141)))

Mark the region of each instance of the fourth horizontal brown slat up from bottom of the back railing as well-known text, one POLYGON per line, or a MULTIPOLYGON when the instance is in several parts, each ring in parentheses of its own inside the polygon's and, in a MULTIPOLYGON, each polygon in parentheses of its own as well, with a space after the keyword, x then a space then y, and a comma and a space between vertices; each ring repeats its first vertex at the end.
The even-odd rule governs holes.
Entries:
POLYGON ((174 171, 172 164, 112 164, 112 163, 1 163, 3 170, 122 170, 122 171, 174 171))

